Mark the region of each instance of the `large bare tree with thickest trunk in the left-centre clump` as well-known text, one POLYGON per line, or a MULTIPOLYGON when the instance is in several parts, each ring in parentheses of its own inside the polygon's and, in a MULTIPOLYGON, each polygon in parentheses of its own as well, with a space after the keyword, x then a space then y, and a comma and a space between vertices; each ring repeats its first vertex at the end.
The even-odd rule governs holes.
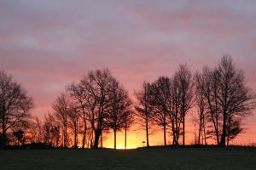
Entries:
MULTIPOLYGON (((98 148, 99 139, 105 127, 106 109, 108 108, 109 89, 113 77, 110 71, 90 71, 81 83, 87 92, 88 118, 94 132, 94 148, 98 148)), ((101 142, 102 143, 102 142, 101 142)))

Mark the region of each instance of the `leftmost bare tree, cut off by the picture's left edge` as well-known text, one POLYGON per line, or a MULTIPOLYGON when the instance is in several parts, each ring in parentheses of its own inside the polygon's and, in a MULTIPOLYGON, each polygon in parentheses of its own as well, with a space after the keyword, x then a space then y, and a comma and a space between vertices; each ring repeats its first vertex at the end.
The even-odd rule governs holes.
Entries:
POLYGON ((33 105, 32 98, 11 76, 0 71, 0 124, 3 133, 3 148, 6 144, 6 133, 12 127, 19 127, 30 117, 33 105))

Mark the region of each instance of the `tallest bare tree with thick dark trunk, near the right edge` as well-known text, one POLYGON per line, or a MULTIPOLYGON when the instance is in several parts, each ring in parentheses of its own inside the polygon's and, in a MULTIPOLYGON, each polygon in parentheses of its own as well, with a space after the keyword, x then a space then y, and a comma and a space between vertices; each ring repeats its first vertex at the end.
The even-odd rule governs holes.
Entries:
MULTIPOLYGON (((224 55, 218 64, 218 102, 222 111, 222 134, 220 145, 226 145, 231 125, 237 117, 246 116, 254 107, 254 96, 245 86, 244 73, 237 70, 231 56, 224 55)), ((238 125, 238 123, 236 123, 238 125)))

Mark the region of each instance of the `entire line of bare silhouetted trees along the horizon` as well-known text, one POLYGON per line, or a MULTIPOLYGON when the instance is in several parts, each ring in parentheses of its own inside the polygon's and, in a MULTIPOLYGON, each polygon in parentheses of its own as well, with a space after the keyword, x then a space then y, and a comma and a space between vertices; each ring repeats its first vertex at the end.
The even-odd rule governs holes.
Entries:
POLYGON ((0 144, 44 143, 54 147, 98 148, 104 137, 133 125, 143 127, 147 147, 152 127, 160 127, 163 144, 185 145, 187 115, 195 108, 195 144, 214 140, 219 146, 243 131, 241 121, 251 115, 255 95, 243 71, 229 55, 216 67, 194 74, 180 65, 172 77, 143 82, 132 101, 127 90, 108 69, 89 71, 79 82, 67 85, 44 118, 32 116, 33 100, 11 76, 0 71, 0 144))

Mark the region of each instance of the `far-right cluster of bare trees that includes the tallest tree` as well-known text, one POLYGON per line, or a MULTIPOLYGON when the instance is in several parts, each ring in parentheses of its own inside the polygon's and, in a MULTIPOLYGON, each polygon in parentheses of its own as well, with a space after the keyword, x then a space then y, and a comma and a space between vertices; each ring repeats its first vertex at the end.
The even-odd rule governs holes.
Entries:
POLYGON ((228 145, 241 133, 241 120, 255 104, 255 95, 245 83, 243 71, 235 67, 230 56, 224 56, 217 67, 205 67, 195 74, 198 144, 207 144, 214 136, 218 145, 228 145))

